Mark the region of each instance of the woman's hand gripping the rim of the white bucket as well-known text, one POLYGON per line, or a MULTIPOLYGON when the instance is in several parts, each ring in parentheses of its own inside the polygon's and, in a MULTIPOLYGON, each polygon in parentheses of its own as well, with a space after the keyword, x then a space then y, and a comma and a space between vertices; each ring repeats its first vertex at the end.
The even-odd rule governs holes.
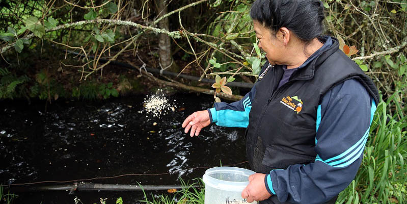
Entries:
POLYGON ((241 192, 242 198, 247 198, 247 202, 253 202, 254 200, 265 200, 272 196, 268 193, 265 183, 264 177, 266 174, 263 173, 255 173, 249 176, 249 185, 243 189, 241 192))

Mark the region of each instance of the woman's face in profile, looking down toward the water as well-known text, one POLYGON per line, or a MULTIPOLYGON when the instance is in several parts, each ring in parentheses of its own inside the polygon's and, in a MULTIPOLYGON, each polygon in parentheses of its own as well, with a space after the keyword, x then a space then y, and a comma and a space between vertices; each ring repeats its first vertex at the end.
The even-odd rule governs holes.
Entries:
POLYGON ((264 27, 259 21, 253 21, 254 31, 256 37, 259 39, 258 46, 266 53, 266 58, 270 64, 284 64, 284 43, 279 40, 278 35, 276 37, 266 27, 264 27))

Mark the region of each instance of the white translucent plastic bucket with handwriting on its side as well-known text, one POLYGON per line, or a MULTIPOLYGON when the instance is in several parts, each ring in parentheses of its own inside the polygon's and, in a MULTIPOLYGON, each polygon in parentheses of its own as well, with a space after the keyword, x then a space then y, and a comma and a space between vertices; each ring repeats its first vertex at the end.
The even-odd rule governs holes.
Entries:
POLYGON ((206 170, 202 177, 205 183, 205 204, 249 203, 241 197, 241 192, 249 184, 249 176, 254 173, 237 167, 214 167, 206 170))

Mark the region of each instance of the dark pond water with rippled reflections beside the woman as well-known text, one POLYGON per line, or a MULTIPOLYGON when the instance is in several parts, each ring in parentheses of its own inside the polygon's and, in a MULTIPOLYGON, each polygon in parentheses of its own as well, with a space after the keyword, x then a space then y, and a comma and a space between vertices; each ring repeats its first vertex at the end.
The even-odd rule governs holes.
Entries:
MULTIPOLYGON (((0 101, 0 183, 93 180, 104 184, 179 185, 202 177, 209 167, 246 161, 244 129, 210 125, 199 137, 183 133, 189 114, 212 106, 210 95, 137 95, 104 101, 0 101), (160 114, 147 112, 145 99, 165 98, 160 114), (165 115, 164 115, 165 113, 165 115), (159 116, 159 118, 158 118, 159 116), (156 123, 156 125, 154 125, 156 123)), ((237 165, 247 168, 247 163, 237 165)), ((71 183, 68 183, 71 184, 71 183)), ((55 185, 47 183, 43 185, 55 185)), ((166 191, 152 191, 165 194, 166 191)), ((139 203, 140 192, 18 192, 15 203, 139 203)))

